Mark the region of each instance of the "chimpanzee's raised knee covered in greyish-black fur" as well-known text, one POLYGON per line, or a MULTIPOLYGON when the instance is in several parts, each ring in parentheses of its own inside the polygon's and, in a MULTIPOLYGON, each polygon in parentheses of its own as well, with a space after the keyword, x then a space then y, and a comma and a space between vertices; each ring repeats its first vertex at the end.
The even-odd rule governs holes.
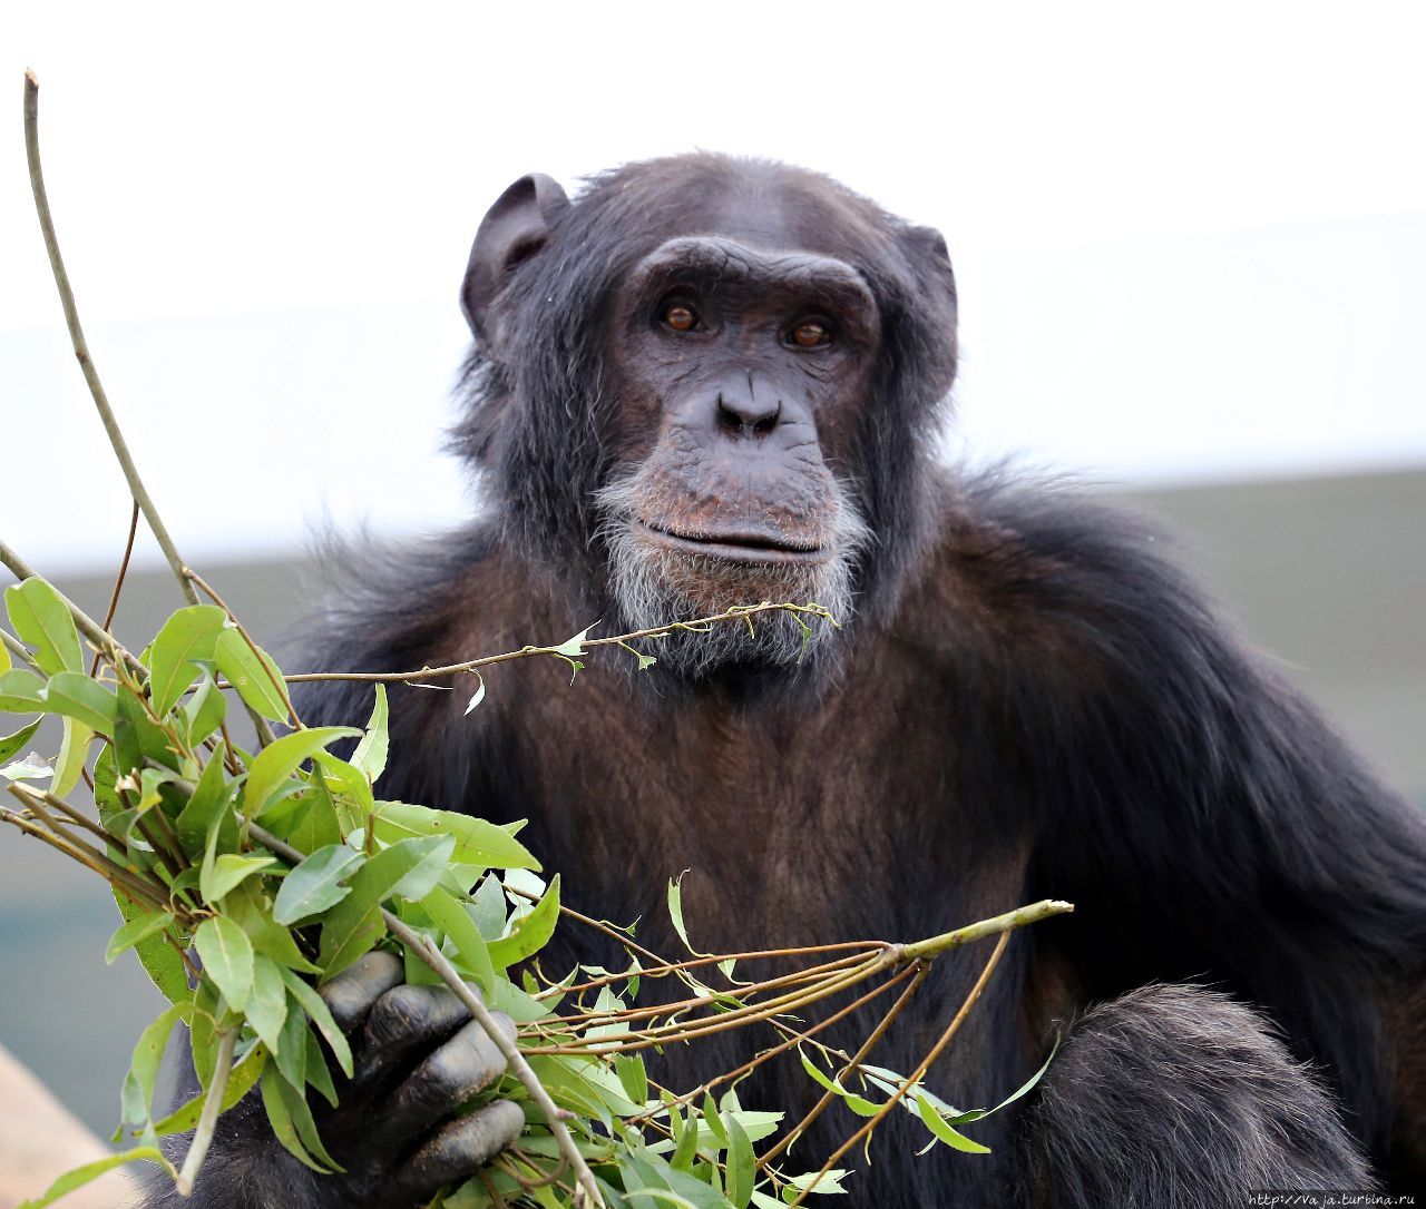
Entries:
POLYGON ((1251 1189, 1372 1188, 1336 1106, 1225 995, 1147 987, 1075 1025, 1031 1129, 1038 1203, 1204 1209, 1251 1189))

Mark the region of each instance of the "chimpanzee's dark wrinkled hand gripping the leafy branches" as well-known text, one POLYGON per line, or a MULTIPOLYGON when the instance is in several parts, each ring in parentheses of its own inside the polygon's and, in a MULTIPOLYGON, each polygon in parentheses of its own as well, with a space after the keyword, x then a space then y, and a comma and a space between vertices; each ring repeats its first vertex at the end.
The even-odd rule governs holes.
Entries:
MULTIPOLYGON (((406 1209, 475 1175, 525 1125, 511 1101, 453 1112, 505 1069, 485 1029, 445 987, 402 984, 401 962, 372 952, 322 988, 352 1038, 354 1072, 334 1072, 339 1106, 309 1103, 322 1142, 347 1171, 322 1176, 298 1163, 267 1123, 254 1094, 218 1118, 194 1195, 168 1188, 145 1203, 228 1209, 406 1209)), ((515 1024, 498 1014, 513 1036, 515 1024)))

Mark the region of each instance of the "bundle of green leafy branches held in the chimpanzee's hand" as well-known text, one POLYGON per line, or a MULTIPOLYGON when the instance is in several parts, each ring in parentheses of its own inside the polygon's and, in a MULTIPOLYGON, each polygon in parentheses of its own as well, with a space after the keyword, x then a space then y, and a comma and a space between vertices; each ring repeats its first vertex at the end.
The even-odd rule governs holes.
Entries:
MULTIPOLYGON (((134 522, 140 512, 147 516, 190 603, 135 656, 108 627, 123 573, 110 616, 98 623, 0 543, 0 560, 20 580, 6 590, 0 713, 34 717, 0 739, 0 774, 19 804, 0 808, 0 820, 110 883, 123 924, 106 958, 133 950, 170 1001, 140 1036, 124 1081, 116 1141, 133 1145, 63 1176, 30 1205, 47 1205, 138 1159, 163 1165, 187 1192, 218 1115, 250 1092, 261 1098, 275 1136, 292 1155, 318 1171, 335 1169, 309 1096, 335 1105, 334 1072, 349 1075, 352 1056, 318 988, 378 947, 404 960, 408 981, 449 987, 505 1055, 505 1076, 469 1109, 502 1098, 526 1116, 515 1146, 478 1179, 438 1196, 436 1205, 800 1205, 813 1193, 843 1190, 837 1163, 898 1109, 923 1122, 930 1145, 984 1151, 958 1126, 994 1109, 954 1109, 925 1088, 924 1075, 978 998, 1010 930, 1067 911, 1068 904, 1034 904, 913 944, 854 941, 670 961, 640 947, 629 930, 562 905, 559 878, 546 884, 538 877, 535 855, 518 838, 519 824, 379 800, 374 786, 388 754, 379 681, 411 677, 369 677, 378 683, 362 730, 304 726, 287 690, 288 680, 301 677, 285 677, 178 556, 84 344, 44 198, 36 114, 30 76, 30 174, 76 354, 133 490, 134 522), (251 751, 232 739, 230 703, 240 703, 252 721, 251 751), (61 730, 53 763, 23 754, 46 717, 57 719, 61 730), (332 750, 344 740, 355 740, 349 758, 332 750), (81 781, 93 806, 76 797, 81 781), (629 967, 540 977, 533 960, 562 918, 619 940, 629 967), (868 1065, 928 962, 991 935, 1000 940, 980 979, 924 1061, 906 1075, 868 1065), (774 977, 733 978, 734 962, 774 960, 783 971, 774 977), (712 968, 726 988, 703 981, 712 968), (684 984, 682 998, 637 1005, 640 984, 670 978, 684 984), (809 1012, 833 997, 841 1005, 824 1019, 809 1012), (823 1029, 873 1004, 880 1015, 854 1054, 819 1041, 823 1029), (492 1011, 515 1019, 513 1039, 495 1025, 492 1011), (201 1092, 157 1119, 160 1062, 180 1022, 190 1032, 201 1092), (646 1066, 650 1051, 750 1027, 771 1028, 771 1044, 697 1088, 665 1086, 646 1066), (794 1049, 823 1088, 814 1108, 790 1123, 781 1113, 744 1109, 736 1084, 794 1049), (819 1169, 790 1171, 789 1145, 833 1101, 864 1123, 819 1169), (193 1138, 175 1169, 158 1139, 188 1131, 193 1138), (757 1143, 766 1143, 760 1152, 757 1143)), ((816 604, 764 602, 635 634, 590 639, 585 630, 558 646, 419 674, 473 677, 475 709, 483 696, 481 667, 491 663, 553 657, 578 672, 589 649, 617 646, 645 669, 656 659, 650 644, 662 636, 753 626, 771 610, 790 612, 804 624, 831 620, 816 604)), ((669 885, 669 910, 686 944, 676 883, 669 885)))

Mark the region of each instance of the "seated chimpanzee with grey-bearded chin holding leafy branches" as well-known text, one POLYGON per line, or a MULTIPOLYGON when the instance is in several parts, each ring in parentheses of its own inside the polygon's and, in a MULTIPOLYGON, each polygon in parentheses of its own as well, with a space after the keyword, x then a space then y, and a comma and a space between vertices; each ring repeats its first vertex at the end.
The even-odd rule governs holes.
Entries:
MULTIPOLYGON (((619 653, 573 686, 553 660, 509 664, 469 717, 468 693, 398 687, 382 796, 528 817, 572 904, 642 918, 662 951, 679 948, 663 875, 683 868, 713 951, 911 940, 1072 900, 1014 937, 931 1072, 945 1099, 992 1103, 1060 1034, 1042 1086, 968 1126, 990 1155, 917 1158, 924 1132, 890 1122, 853 1203, 1205 1209, 1423 1179, 1422 813, 1225 630, 1151 528, 945 465, 957 297, 938 234, 757 160, 632 164, 573 200, 529 175, 481 224, 462 305, 453 448, 485 510, 348 559, 317 670, 760 600, 821 603, 840 627, 679 634, 647 670, 619 653)), ((309 723, 369 710, 368 686, 299 699, 309 723)), ((938 961, 878 1061, 914 1066, 978 969, 938 961)), ((442 992, 398 978, 374 957, 338 988, 354 1022, 375 1002, 382 1078, 319 1118, 361 1179, 311 1176, 240 1109, 198 1203, 429 1190, 414 1136, 491 1059, 442 992)), ((757 1044, 733 1036, 716 1062, 757 1044)), ((666 1055, 666 1078, 694 1061, 666 1055)), ((817 1089, 794 1061, 743 1091, 796 1111, 817 1089)), ((485 1161, 506 1125, 438 1136, 435 1175, 485 1161)), ((824 1115, 799 1158, 846 1132, 824 1115)))

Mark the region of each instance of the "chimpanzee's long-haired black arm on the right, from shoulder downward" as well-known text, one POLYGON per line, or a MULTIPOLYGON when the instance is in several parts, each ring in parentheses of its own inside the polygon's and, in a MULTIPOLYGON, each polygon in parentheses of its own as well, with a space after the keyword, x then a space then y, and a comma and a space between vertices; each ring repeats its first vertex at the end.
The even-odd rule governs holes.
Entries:
POLYGON ((1419 1163, 1426 814, 1226 633, 1141 523, 1054 495, 991 508, 1058 653, 1021 676, 1015 710, 1044 810, 1034 877, 1079 908, 1060 938, 1091 992, 1218 982, 1320 1064, 1378 1163, 1419 1163))

